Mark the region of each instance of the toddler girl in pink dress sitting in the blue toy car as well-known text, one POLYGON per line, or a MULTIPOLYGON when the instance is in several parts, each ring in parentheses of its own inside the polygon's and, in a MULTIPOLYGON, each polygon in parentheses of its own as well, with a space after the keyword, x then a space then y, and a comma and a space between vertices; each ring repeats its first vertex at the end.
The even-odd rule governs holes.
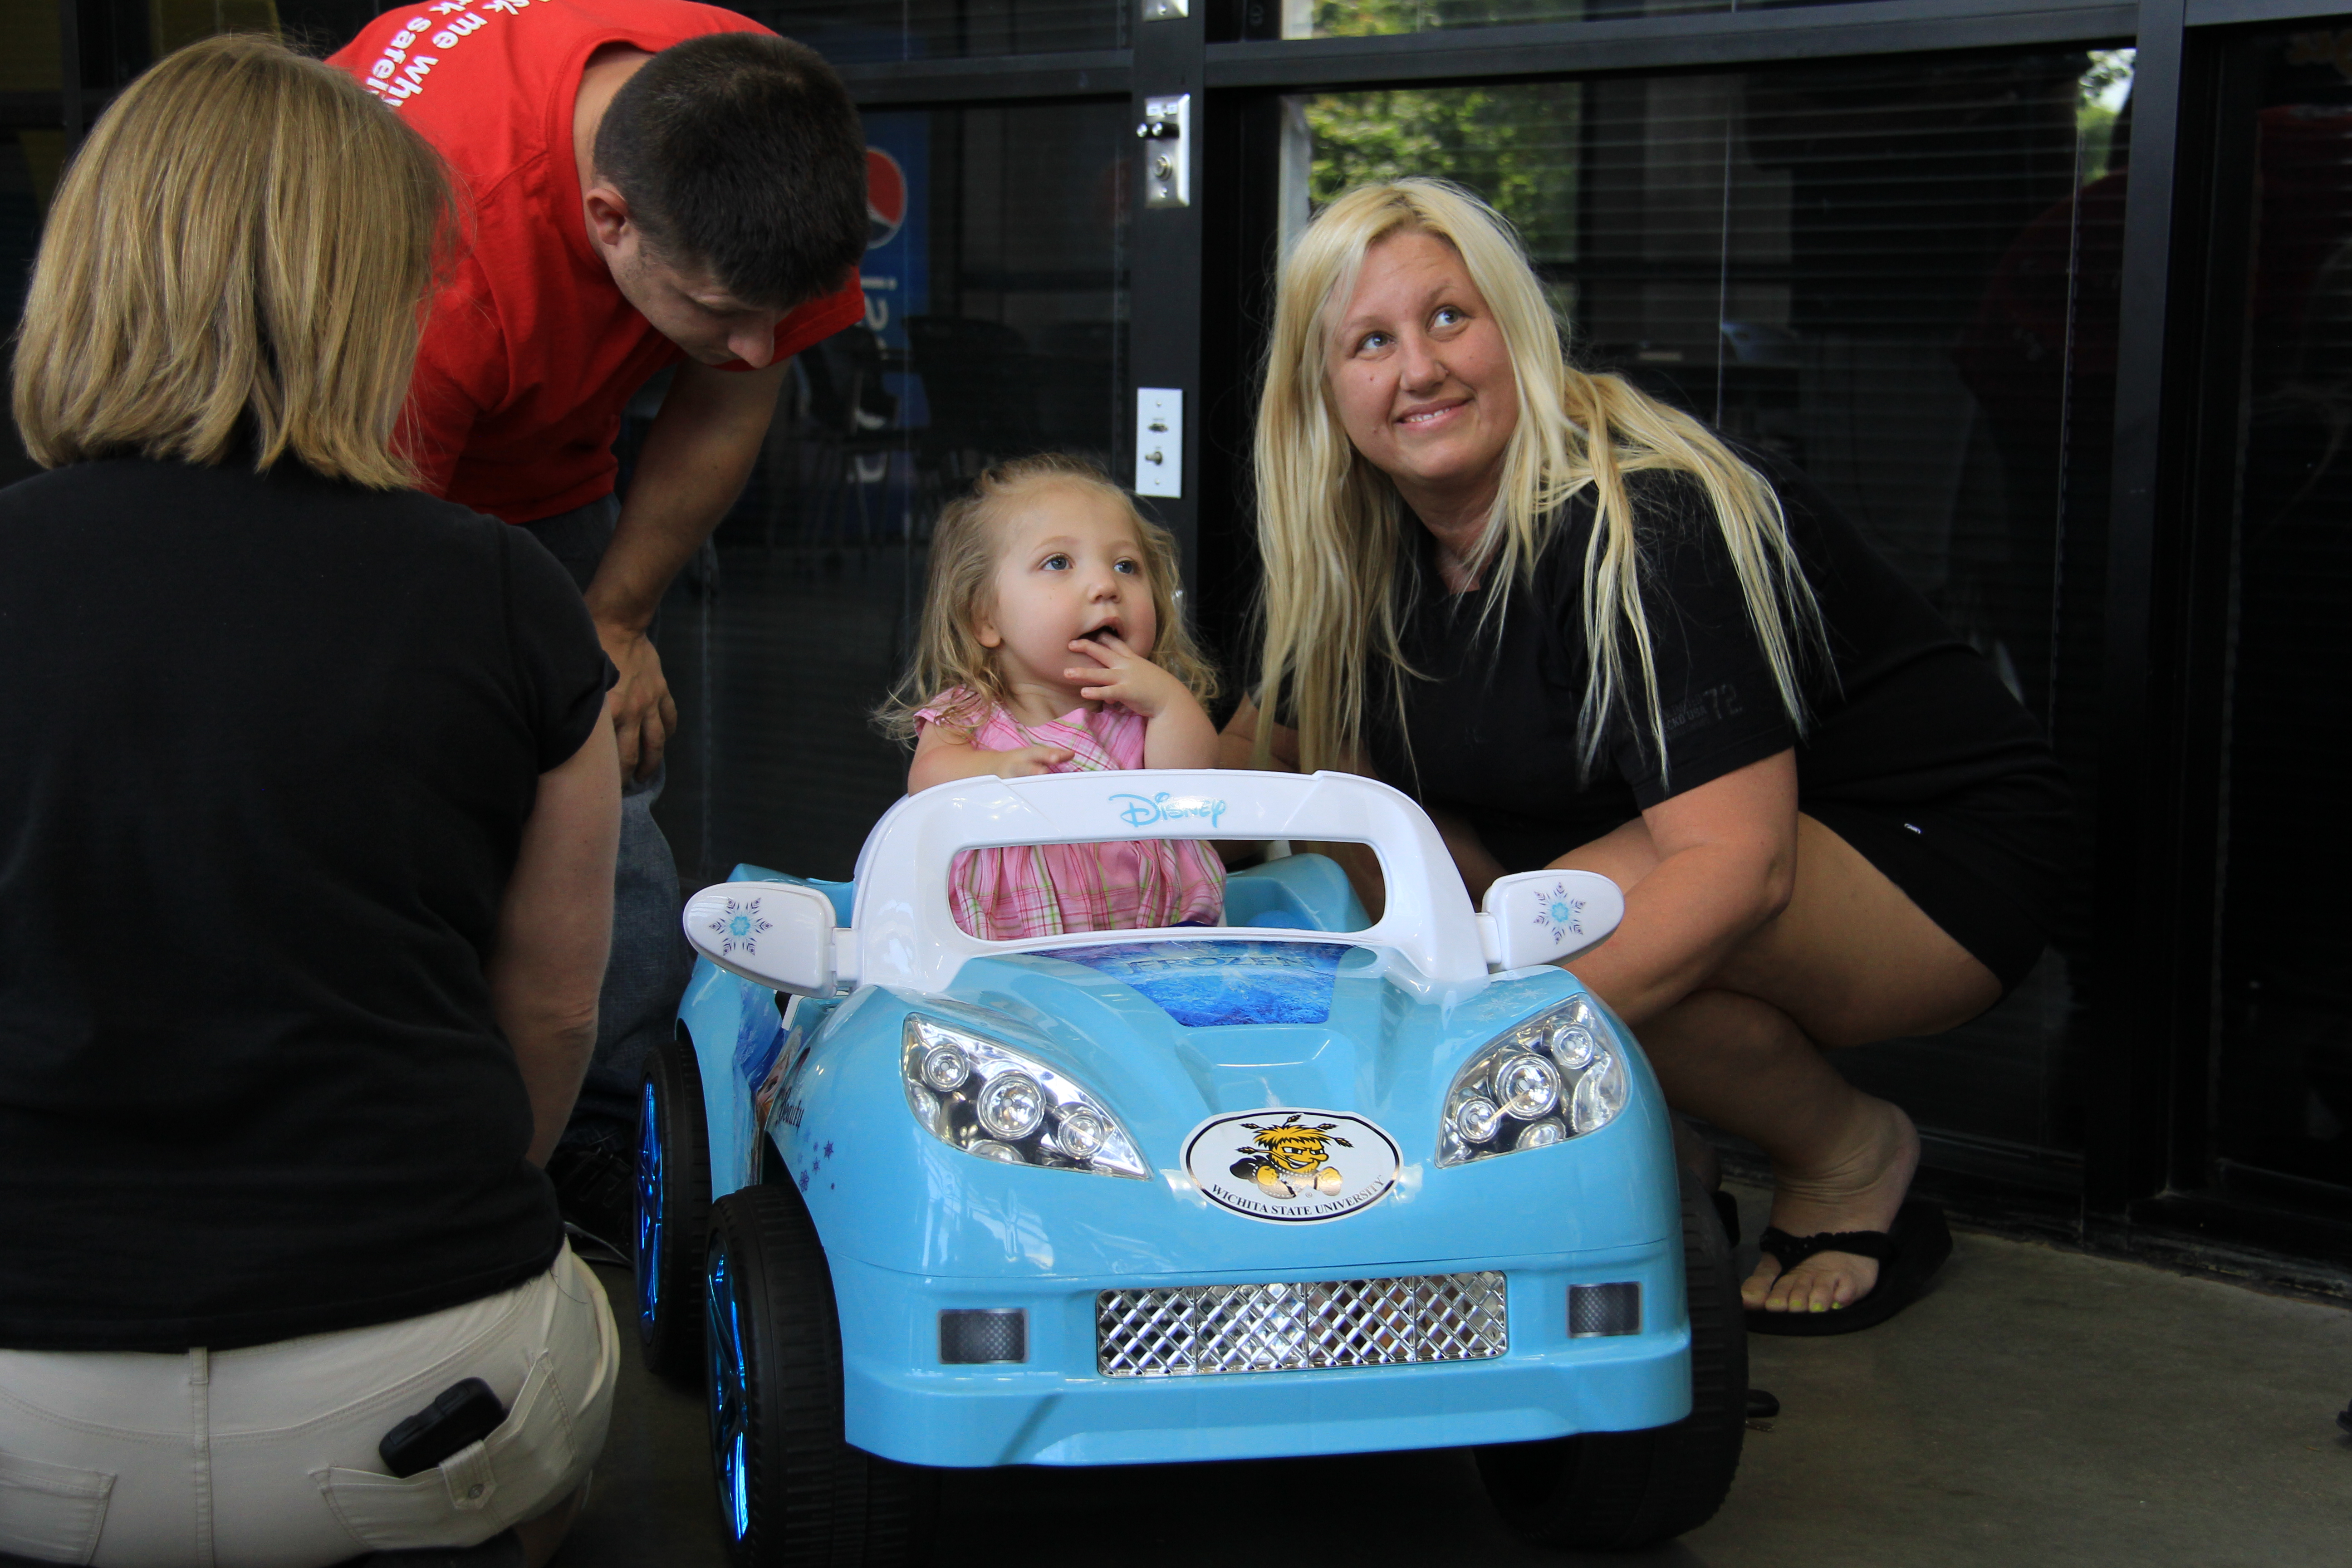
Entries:
MULTIPOLYGON (((875 717, 915 741, 913 795, 974 773, 1211 766, 1214 691, 1169 531, 1096 468, 1035 456, 938 515, 915 668, 875 717)), ((1011 940, 1214 926, 1225 870, 1190 839, 1025 844, 960 853, 948 889, 957 926, 1011 940)))

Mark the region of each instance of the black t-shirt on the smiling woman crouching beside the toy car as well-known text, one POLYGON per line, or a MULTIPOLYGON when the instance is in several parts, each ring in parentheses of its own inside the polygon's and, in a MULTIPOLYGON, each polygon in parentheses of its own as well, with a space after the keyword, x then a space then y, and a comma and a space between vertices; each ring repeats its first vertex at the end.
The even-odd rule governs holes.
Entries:
POLYGON ((1936 806, 1964 839, 2044 860, 2034 872, 2046 877, 2065 785, 2032 715, 1806 480, 1759 470, 1828 625, 1830 661, 1816 649, 1802 670, 1804 736, 1780 703, 1705 491, 1686 475, 1637 473, 1628 487, 1663 766, 1630 639, 1632 701, 1621 693, 1592 769, 1578 766, 1590 670, 1585 491, 1557 520, 1534 583, 1512 583, 1501 621, 1484 630, 1486 595, 1446 595, 1428 529, 1406 529, 1404 654, 1430 679, 1404 682, 1409 748, 1392 708, 1374 701, 1381 778, 1458 811, 1508 870, 1534 870, 1646 806, 1795 748, 1799 806, 1936 806))

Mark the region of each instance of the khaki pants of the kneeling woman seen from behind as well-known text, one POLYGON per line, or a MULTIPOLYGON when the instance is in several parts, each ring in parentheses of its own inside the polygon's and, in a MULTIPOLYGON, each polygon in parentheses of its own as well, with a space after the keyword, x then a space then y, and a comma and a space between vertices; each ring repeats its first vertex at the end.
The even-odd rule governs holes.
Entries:
POLYGON ((0 1552, 103 1568, 327 1568, 470 1547, 560 1502, 612 1420, 619 1333, 567 1246, 499 1295, 188 1354, 0 1349, 0 1552), (416 1476, 376 1443, 452 1382, 506 1422, 416 1476))

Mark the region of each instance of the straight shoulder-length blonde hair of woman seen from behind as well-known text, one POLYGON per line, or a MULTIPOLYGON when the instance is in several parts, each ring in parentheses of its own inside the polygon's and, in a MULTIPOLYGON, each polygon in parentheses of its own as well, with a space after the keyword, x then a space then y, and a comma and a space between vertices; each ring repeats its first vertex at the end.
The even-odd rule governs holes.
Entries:
POLYGON ((452 195, 355 80, 259 35, 165 56, 99 118, 49 209, 16 341, 47 468, 221 463, 252 442, 372 489, 393 454, 452 195))

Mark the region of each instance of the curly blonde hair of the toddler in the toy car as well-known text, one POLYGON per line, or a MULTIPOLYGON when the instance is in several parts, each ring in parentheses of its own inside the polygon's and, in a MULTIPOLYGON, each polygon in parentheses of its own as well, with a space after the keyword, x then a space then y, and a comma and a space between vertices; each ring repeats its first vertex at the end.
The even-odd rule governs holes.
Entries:
MULTIPOLYGON (((995 649, 983 646, 974 628, 990 609, 988 588, 997 571, 997 524, 1009 508, 1044 489, 1087 489, 1127 512, 1143 543, 1143 576, 1152 590, 1152 616, 1160 623, 1150 661, 1183 682, 1202 703, 1216 696, 1216 665, 1192 639, 1176 590, 1176 583, 1183 581, 1176 536, 1138 512, 1136 498, 1103 477, 1101 468, 1049 451, 997 463, 981 475, 969 496, 941 508, 938 524, 931 529, 931 571, 922 595, 915 663, 873 715, 887 736, 913 741, 915 715, 955 686, 964 686, 985 705, 1007 701, 995 649)), ((971 722, 978 724, 983 712, 971 712, 971 722)))

